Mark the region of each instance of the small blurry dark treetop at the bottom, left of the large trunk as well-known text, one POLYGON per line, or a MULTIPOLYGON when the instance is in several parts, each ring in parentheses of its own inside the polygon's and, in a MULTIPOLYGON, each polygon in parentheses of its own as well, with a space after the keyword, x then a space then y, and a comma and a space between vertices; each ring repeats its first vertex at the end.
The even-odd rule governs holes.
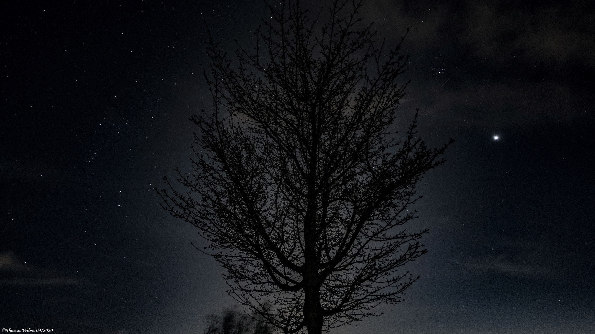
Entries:
POLYGON ((205 334, 273 334, 273 326, 249 317, 237 307, 209 314, 205 334))

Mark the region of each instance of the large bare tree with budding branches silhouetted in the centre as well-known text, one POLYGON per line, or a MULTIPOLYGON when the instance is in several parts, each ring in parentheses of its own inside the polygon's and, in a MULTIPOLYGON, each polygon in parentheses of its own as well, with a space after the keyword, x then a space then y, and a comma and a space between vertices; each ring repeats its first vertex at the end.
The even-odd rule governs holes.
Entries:
POLYGON ((397 141, 406 58, 400 43, 374 44, 360 6, 336 1, 322 22, 299 2, 270 5, 236 62, 209 39, 213 110, 190 117, 194 173, 176 169, 187 192, 167 177, 159 192, 208 240, 201 251, 226 269, 230 295, 284 333, 320 334, 402 301, 417 278, 397 269, 426 252, 428 230, 399 226, 448 144, 416 138, 417 114, 397 141))

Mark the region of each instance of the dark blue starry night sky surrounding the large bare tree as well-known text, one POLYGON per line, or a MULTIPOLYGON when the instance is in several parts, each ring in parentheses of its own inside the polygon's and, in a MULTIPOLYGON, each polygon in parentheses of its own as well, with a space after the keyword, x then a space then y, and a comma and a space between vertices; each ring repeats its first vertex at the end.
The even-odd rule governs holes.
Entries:
MULTIPOLYGON (((411 29, 397 123, 419 107, 428 144, 456 142, 405 226, 430 228, 404 268, 421 279, 331 333, 593 333, 593 5, 364 3, 390 43, 411 29)), ((1 327, 202 333, 233 304, 153 187, 189 170, 188 117, 211 103, 203 21, 231 52, 267 14, 258 0, 3 5, 1 327)))

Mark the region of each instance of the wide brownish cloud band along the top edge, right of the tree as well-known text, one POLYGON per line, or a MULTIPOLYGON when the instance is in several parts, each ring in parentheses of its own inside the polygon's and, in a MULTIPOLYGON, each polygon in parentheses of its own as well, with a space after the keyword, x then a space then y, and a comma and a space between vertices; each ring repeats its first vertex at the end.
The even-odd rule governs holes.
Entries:
POLYGON ((384 36, 411 28, 417 47, 468 44, 494 62, 529 61, 595 66, 593 5, 588 2, 367 1, 364 14, 384 36))

